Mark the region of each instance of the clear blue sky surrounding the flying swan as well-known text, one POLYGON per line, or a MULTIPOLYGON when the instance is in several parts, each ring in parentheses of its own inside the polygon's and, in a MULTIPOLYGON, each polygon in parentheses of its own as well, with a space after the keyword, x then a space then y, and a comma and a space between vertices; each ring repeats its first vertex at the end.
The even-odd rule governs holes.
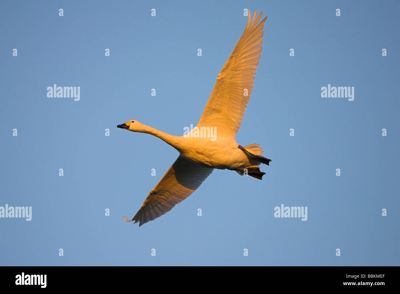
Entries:
POLYGON ((0 264, 399 266, 399 8, 1 1, 0 206, 32 206, 32 220, 0 219, 0 264), (236 140, 259 143, 272 166, 262 181, 214 170, 164 216, 125 222, 178 152, 116 125, 177 136, 196 125, 245 8, 268 19, 236 140), (48 98, 53 84, 80 86, 80 101, 48 98), (354 86, 354 101, 321 98, 328 84, 354 86), (281 204, 307 206, 308 220, 275 218, 281 204))

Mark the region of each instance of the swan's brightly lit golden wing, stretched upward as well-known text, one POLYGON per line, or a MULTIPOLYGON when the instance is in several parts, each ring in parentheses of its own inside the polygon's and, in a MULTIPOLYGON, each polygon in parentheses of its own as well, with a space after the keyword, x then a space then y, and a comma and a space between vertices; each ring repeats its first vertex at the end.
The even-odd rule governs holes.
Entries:
POLYGON ((256 19, 249 10, 247 26, 220 74, 208 99, 198 126, 216 127, 218 134, 235 137, 253 90, 254 75, 260 59, 264 18, 256 19), (247 90, 245 90, 247 89, 247 90), (247 94, 247 96, 245 96, 247 94))

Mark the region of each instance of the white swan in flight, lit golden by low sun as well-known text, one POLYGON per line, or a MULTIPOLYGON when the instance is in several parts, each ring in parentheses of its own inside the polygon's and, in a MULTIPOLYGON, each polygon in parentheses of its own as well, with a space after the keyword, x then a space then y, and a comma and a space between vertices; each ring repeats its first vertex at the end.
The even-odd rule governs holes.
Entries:
POLYGON ((206 108, 197 124, 184 136, 172 136, 137 120, 130 120, 117 127, 132 132, 156 136, 179 152, 174 164, 160 182, 150 191, 142 207, 132 219, 124 220, 139 226, 170 211, 176 204, 190 196, 212 173, 214 168, 234 170, 240 175, 249 175, 262 180, 261 163, 272 161, 261 156, 259 144, 245 147, 236 143, 236 133, 242 122, 244 111, 250 100, 254 75, 260 59, 264 22, 262 12, 256 18, 249 10, 246 28, 225 63, 206 108), (247 89, 248 95, 244 95, 247 89), (215 130, 214 139, 207 136, 215 130), (203 130, 198 134, 198 130, 203 130), (206 136, 202 136, 205 134, 206 136))

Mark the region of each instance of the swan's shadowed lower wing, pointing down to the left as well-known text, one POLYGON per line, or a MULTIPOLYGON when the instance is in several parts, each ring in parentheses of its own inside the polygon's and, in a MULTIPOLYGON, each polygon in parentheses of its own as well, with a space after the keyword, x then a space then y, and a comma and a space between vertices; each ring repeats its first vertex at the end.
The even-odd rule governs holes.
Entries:
POLYGON ((125 216, 124 220, 140 222, 141 226, 166 214, 175 204, 190 196, 212 171, 213 168, 202 167, 178 156, 160 182, 150 191, 132 220, 125 216))

